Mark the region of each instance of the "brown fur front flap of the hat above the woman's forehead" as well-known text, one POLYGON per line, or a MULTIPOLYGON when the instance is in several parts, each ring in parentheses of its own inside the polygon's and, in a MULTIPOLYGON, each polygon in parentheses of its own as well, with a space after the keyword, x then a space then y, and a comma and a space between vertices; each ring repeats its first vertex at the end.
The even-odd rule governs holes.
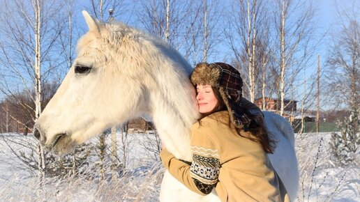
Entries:
POLYGON ((190 80, 194 86, 200 84, 218 87, 220 75, 221 70, 216 65, 199 63, 191 74, 190 80))

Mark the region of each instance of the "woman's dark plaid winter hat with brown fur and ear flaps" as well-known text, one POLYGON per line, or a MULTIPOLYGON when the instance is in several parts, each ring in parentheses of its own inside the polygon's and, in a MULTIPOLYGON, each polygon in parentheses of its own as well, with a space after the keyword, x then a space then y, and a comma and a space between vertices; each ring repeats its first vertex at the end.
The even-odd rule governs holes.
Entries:
POLYGON ((206 84, 218 88, 235 127, 248 127, 250 119, 245 112, 250 112, 255 116, 257 111, 262 114, 260 110, 246 111, 243 108, 241 105, 243 80, 240 73, 227 63, 199 63, 190 75, 190 80, 194 86, 206 84))

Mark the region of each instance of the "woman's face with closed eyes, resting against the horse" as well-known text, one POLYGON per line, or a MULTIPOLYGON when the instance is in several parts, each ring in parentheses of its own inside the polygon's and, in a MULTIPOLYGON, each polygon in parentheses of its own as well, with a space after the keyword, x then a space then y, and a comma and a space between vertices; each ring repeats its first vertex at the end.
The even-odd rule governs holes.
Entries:
POLYGON ((199 112, 202 114, 212 111, 218 104, 218 99, 216 99, 213 94, 213 88, 209 85, 197 85, 196 86, 196 100, 199 104, 199 112))

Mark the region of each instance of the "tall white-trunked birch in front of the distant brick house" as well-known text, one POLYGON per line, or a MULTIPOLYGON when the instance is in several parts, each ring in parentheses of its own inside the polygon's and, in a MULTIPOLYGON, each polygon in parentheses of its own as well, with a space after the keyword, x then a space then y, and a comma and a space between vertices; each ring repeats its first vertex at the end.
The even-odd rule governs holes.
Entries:
MULTIPOLYGON (((310 43, 313 24, 313 7, 308 1, 278 0, 275 6, 275 29, 278 44, 278 98, 279 114, 284 114, 284 100, 290 88, 297 85, 297 75, 308 64, 315 49, 315 42, 310 43)), ((292 91, 296 91, 293 89, 292 91)), ((290 97, 290 96, 289 96, 290 97)))

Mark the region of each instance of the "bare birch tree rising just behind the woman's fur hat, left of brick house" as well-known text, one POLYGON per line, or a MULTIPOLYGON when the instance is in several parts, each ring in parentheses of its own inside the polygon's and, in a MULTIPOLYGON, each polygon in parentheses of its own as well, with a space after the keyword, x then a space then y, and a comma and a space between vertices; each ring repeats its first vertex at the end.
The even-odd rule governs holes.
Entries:
POLYGON ((257 92, 265 96, 269 13, 261 0, 238 0, 231 7, 227 40, 234 54, 235 66, 243 75, 244 93, 254 102, 259 95, 257 92))

